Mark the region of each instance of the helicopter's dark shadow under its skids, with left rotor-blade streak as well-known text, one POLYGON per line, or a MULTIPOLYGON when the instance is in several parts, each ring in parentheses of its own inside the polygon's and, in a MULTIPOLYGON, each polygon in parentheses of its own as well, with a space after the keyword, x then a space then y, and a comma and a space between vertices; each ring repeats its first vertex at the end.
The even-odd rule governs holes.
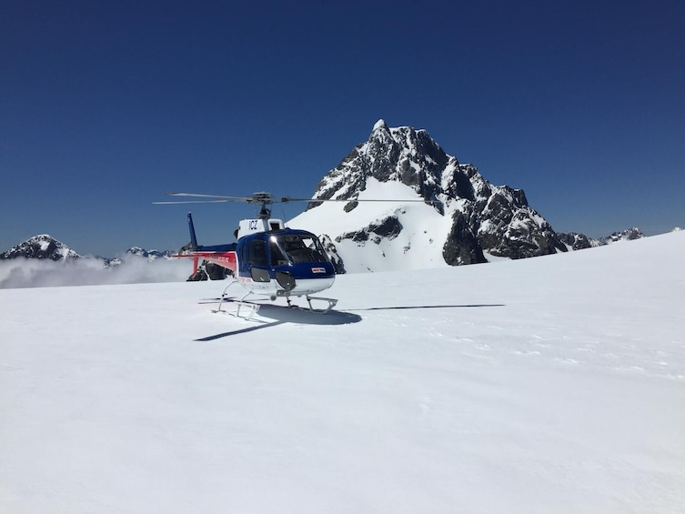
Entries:
MULTIPOLYGON (((219 314, 219 316, 230 316, 227 313, 219 314)), ((236 319, 236 317, 232 317, 236 319)), ((259 303, 259 311, 255 317, 250 320, 242 320, 250 326, 245 328, 237 328, 229 332, 222 332, 207 336, 206 338, 197 338, 196 341, 214 341, 220 338, 227 338, 229 336, 237 336, 239 334, 247 334, 256 330, 264 328, 274 328, 278 325, 285 325, 292 323, 295 325, 318 325, 318 326, 333 326, 333 325, 348 325, 350 323, 358 323, 361 321, 361 316, 352 312, 330 310, 326 314, 320 312, 312 312, 305 308, 290 308, 284 306, 277 306, 268 303, 259 303)))

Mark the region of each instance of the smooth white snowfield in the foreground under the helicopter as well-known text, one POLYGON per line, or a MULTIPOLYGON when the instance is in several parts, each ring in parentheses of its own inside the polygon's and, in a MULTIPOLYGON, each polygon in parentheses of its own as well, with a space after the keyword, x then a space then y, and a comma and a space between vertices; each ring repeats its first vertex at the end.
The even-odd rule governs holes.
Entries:
POLYGON ((683 253, 0 290, 0 512, 681 513, 683 253))

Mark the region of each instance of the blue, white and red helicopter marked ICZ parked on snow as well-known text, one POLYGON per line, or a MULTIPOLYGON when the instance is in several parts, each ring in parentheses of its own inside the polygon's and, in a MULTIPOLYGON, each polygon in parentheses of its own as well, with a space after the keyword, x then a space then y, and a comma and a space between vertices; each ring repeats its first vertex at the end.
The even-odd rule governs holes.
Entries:
MULTIPOLYGON (((289 202, 387 202, 392 200, 374 199, 318 199, 275 197, 271 193, 261 191, 248 197, 229 197, 221 195, 205 195, 199 193, 166 193, 170 197, 194 197, 195 200, 163 201, 153 204, 197 204, 197 203, 226 203, 244 202, 260 206, 259 214, 254 219, 243 219, 238 223, 235 236, 236 243, 215 246, 202 246, 197 243, 195 226, 191 213, 187 214, 190 242, 182 247, 174 257, 188 257, 193 259, 193 273, 198 267, 199 259, 205 259, 220 267, 228 269, 233 280, 227 285, 219 298, 222 310, 227 299, 227 289, 239 284, 245 294, 237 300, 231 301, 237 306, 237 312, 229 313, 247 319, 253 317, 260 304, 247 301, 256 295, 268 297, 274 301, 278 297, 285 297, 287 307, 295 307, 291 297, 305 297, 308 310, 327 314, 337 305, 337 299, 315 297, 317 293, 333 286, 336 279, 335 269, 327 252, 318 237, 307 230, 286 227, 281 219, 271 217, 270 207, 275 203, 289 202), (200 199, 201 198, 201 199, 200 199), (314 307, 323 302, 324 307, 314 307), (241 309, 245 307, 247 313, 241 316, 241 309)), ((403 202, 426 202, 424 199, 402 200, 403 202)))

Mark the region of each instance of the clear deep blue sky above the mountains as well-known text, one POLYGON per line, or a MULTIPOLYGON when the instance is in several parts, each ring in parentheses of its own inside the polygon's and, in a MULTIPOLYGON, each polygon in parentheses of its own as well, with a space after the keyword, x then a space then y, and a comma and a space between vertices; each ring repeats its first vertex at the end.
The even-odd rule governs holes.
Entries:
MULTIPOLYGON (((0 10, 0 250, 186 243, 166 191, 310 196, 379 118, 556 230, 685 225, 681 1, 32 2, 0 10)), ((252 207, 192 207, 200 242, 252 207)), ((294 217, 301 206, 275 209, 294 217)))

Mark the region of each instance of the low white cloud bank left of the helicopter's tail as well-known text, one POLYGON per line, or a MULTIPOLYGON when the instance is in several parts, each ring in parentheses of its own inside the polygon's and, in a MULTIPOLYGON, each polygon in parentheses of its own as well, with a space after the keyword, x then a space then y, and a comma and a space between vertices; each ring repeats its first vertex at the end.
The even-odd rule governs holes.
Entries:
POLYGON ((15 258, 0 261, 0 288, 96 286, 183 282, 192 273, 186 259, 124 256, 115 267, 97 258, 65 261, 15 258))

